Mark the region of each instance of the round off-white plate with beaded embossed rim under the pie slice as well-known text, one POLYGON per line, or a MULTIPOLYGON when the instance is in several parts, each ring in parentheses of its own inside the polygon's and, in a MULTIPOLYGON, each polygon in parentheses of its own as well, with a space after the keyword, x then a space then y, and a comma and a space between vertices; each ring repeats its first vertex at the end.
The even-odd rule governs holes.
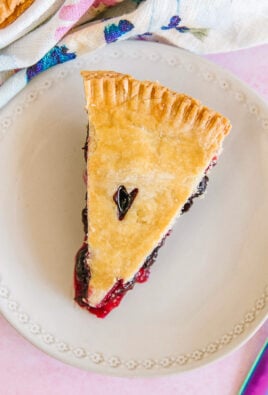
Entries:
POLYGON ((262 323, 268 298, 268 109, 206 60, 110 45, 34 79, 0 113, 0 308, 69 364, 158 375, 208 363, 262 323), (205 199, 177 222, 151 278, 105 320, 73 302, 87 117, 80 69, 113 69, 194 95, 233 124, 205 199))

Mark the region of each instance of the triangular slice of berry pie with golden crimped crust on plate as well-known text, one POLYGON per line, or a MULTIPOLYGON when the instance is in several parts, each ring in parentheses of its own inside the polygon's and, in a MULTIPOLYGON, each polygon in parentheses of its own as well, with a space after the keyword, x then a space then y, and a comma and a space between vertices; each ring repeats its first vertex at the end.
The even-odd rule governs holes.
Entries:
POLYGON ((82 76, 89 117, 87 205, 75 300, 104 317, 148 278, 176 218, 205 191, 231 126, 156 82, 110 71, 82 76))

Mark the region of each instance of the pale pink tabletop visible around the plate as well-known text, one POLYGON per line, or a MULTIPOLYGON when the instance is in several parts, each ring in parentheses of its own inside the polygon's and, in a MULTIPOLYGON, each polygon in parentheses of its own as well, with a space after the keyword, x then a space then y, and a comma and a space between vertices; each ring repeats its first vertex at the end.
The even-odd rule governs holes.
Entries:
MULTIPOLYGON (((268 45, 207 58, 268 100, 268 45)), ((268 322, 239 350, 201 369, 170 377, 125 379, 81 371, 52 359, 0 316, 0 394, 235 395, 267 336, 268 322)))

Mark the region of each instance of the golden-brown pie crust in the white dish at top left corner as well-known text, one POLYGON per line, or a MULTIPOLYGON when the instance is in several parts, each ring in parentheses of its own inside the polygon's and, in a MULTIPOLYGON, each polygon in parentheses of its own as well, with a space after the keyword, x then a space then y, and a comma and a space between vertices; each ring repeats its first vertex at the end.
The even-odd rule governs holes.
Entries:
POLYGON ((0 4, 0 29, 14 22, 34 0, 3 0, 0 4))

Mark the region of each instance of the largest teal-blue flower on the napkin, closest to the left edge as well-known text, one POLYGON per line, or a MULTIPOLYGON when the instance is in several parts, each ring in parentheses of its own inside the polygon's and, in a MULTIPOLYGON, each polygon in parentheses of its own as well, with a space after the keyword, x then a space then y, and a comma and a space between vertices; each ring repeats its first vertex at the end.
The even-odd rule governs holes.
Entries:
POLYGON ((26 69, 27 82, 31 81, 31 79, 37 74, 42 73, 42 71, 45 71, 52 66, 76 58, 75 53, 68 53, 67 51, 68 48, 65 45, 61 47, 58 47, 56 45, 54 48, 52 48, 49 52, 45 54, 45 56, 43 56, 42 59, 26 69))

